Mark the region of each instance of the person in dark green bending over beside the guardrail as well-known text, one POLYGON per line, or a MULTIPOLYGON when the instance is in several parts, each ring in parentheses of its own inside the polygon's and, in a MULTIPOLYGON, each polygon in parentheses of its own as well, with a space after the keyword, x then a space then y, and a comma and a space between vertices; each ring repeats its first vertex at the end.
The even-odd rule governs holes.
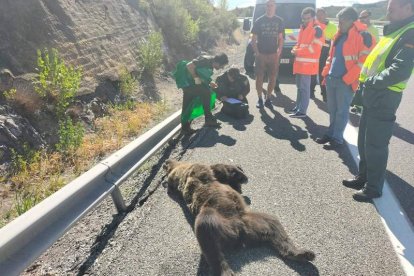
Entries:
POLYGON ((221 69, 229 60, 226 54, 222 53, 214 57, 202 55, 196 59, 187 62, 181 61, 177 64, 174 72, 175 81, 178 88, 183 89, 183 105, 181 112, 182 133, 192 134, 195 132, 191 128, 191 120, 196 116, 194 109, 197 106, 197 98, 201 100, 202 110, 204 112, 205 126, 219 127, 220 123, 211 113, 211 89, 217 85, 211 81, 213 69, 221 69))

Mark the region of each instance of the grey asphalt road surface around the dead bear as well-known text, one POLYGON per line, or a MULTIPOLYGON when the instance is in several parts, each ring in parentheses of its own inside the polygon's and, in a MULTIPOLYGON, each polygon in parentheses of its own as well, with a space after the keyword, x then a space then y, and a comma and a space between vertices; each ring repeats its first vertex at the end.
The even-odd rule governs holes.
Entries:
MULTIPOLYGON (((398 114, 387 175, 411 219, 413 82, 398 114)), ((296 90, 292 84, 281 87, 273 110, 256 109, 252 89, 250 118, 233 121, 218 113, 222 128, 203 128, 184 142, 189 148, 182 159, 241 165, 249 177, 243 191, 250 207, 278 216, 291 238, 314 250, 317 258, 298 264, 259 247, 229 253, 230 266, 238 275, 404 275, 375 206, 353 201, 353 190, 341 185, 357 169, 347 147, 329 151, 313 141, 328 125, 325 104, 311 101, 308 118, 291 119, 285 111, 292 107, 296 90)), ((158 189, 119 223, 110 246, 96 256, 87 274, 208 275, 193 218, 180 203, 158 189)))

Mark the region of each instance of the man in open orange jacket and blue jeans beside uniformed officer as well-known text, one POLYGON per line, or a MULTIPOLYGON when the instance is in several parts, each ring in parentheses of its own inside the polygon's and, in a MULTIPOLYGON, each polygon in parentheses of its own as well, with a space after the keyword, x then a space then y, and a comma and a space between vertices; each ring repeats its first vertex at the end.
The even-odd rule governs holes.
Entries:
POLYGON ((326 81, 329 128, 318 144, 325 149, 335 149, 343 142, 343 134, 349 118, 349 106, 358 88, 362 64, 373 47, 374 38, 367 26, 359 22, 354 8, 347 7, 337 14, 339 30, 322 75, 326 81))

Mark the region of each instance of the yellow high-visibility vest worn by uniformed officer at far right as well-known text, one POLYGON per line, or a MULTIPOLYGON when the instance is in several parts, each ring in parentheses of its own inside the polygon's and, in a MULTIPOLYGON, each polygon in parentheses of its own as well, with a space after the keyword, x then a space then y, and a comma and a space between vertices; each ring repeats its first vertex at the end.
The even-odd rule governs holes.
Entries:
MULTIPOLYGON (((380 39, 362 66, 361 74, 359 75, 360 82, 365 82, 367 78, 375 76, 385 69, 385 61, 387 60, 391 49, 400 37, 409 29, 414 29, 414 22, 407 24, 405 27, 380 39)), ((409 78, 391 85, 388 89, 395 92, 402 92, 407 86, 408 80, 409 78)))

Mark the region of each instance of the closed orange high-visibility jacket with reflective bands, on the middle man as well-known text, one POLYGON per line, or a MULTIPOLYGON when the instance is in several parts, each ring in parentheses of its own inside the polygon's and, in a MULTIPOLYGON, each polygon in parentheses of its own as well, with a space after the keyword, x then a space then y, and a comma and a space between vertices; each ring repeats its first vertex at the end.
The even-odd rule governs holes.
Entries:
POLYGON ((298 42, 293 47, 296 49, 293 74, 318 74, 319 57, 324 43, 323 28, 319 26, 318 21, 312 20, 305 28, 302 27, 299 31, 298 42), (316 27, 322 30, 320 38, 315 37, 316 27))

